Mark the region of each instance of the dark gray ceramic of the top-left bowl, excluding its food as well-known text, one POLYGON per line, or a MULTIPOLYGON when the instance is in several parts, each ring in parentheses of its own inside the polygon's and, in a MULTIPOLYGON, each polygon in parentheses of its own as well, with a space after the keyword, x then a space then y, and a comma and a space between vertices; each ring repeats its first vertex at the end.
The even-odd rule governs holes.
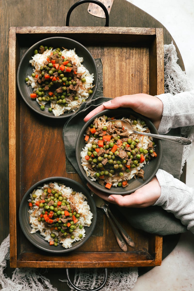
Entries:
MULTIPOLYGON (((33 72, 32 70, 32 66, 29 63, 29 61, 31 60, 32 56, 34 55, 34 50, 38 49, 38 47, 40 45, 47 45, 48 47, 65 47, 66 49, 74 49, 75 48, 75 52, 78 56, 83 57, 83 66, 88 69, 88 71, 90 72, 90 74, 94 74, 94 81, 93 81, 93 85, 95 85, 95 87, 92 89, 93 93, 88 97, 87 101, 89 101, 90 99, 92 99, 92 97, 95 95, 95 92, 97 90, 97 85, 98 85, 98 70, 97 70, 97 65, 95 63, 94 58, 92 57, 92 55, 90 54, 90 52, 88 51, 88 49, 86 49, 86 47, 84 47, 81 43, 70 39, 70 38, 65 38, 65 37, 51 37, 51 38, 46 38, 43 40, 40 40, 38 42, 36 42, 33 46, 31 46, 27 52, 24 54, 24 56, 22 57, 18 69, 17 69, 17 86, 19 89, 19 93, 21 94, 22 98, 24 99, 24 102, 26 102, 26 104, 35 112, 41 114, 42 116, 47 116, 49 118, 69 118, 70 116, 72 116, 75 112, 70 112, 67 113, 65 112, 63 115, 60 116, 54 116, 53 113, 49 113, 48 112, 48 108, 49 106, 49 102, 48 104, 45 106, 45 110, 42 111, 40 109, 40 105, 38 104, 38 102, 36 102, 35 99, 31 99, 30 98, 30 94, 33 92, 33 89, 31 88, 31 86, 27 86, 26 82, 25 82, 25 78, 28 75, 31 75, 31 73, 33 72)), ((78 110, 78 109, 77 109, 78 110)))

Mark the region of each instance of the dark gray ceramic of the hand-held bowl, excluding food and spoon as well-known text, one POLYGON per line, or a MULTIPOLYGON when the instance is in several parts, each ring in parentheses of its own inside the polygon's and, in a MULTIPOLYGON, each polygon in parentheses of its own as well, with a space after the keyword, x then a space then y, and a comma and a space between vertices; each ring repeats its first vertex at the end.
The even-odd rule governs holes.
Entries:
POLYGON ((93 116, 86 124, 83 126, 81 129, 77 142, 76 142, 76 161, 79 166, 79 170, 81 171, 82 175, 85 177, 87 182, 89 182, 93 187, 96 189, 99 189, 103 192, 106 192, 108 194, 128 194, 136 191, 138 188, 142 187, 143 185, 147 184, 156 174, 156 172, 159 169, 160 163, 161 163, 161 158, 162 158, 162 143, 161 140, 159 139, 154 139, 154 142, 156 144, 156 153, 157 157, 156 159, 153 159, 149 162, 149 165, 145 165, 143 170, 145 171, 144 173, 144 180, 139 178, 139 179, 134 179, 132 178, 131 180, 128 181, 129 186, 126 188, 122 187, 111 187, 111 189, 107 189, 104 186, 100 185, 98 181, 92 181, 89 177, 87 177, 85 170, 81 166, 81 157, 80 157, 80 152, 82 149, 85 147, 85 141, 84 141, 84 133, 86 131, 86 128, 93 122, 93 120, 98 117, 102 116, 103 114, 111 117, 115 116, 116 119, 122 118, 122 117, 129 117, 130 115, 135 116, 136 118, 140 118, 142 120, 145 120, 146 125, 149 127, 150 132, 154 134, 158 134, 157 129, 153 125, 153 123, 146 118, 145 116, 142 116, 141 114, 136 113, 130 108, 118 108, 118 109, 112 109, 112 110, 104 110, 95 116, 93 116))

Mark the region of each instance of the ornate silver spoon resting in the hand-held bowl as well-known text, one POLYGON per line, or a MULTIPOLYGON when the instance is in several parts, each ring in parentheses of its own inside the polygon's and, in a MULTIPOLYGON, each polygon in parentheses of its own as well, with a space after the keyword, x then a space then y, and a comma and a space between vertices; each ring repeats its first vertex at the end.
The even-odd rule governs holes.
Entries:
POLYGON ((190 145, 191 144, 191 141, 189 139, 186 139, 185 137, 181 137, 181 136, 170 136, 170 135, 153 134, 150 132, 147 133, 147 132, 136 131, 131 127, 131 125, 128 121, 121 120, 121 119, 106 121, 106 123, 116 123, 116 124, 122 125, 124 128, 126 128, 129 131, 129 134, 131 134, 131 133, 143 134, 143 135, 155 137, 156 139, 163 139, 166 141, 172 141, 174 143, 179 143, 181 145, 190 145))

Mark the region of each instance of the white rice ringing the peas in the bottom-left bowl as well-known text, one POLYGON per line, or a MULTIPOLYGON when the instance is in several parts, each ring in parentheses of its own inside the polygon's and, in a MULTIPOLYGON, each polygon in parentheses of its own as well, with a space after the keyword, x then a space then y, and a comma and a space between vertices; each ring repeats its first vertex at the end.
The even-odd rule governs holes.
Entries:
MULTIPOLYGON (((44 184, 43 187, 40 189, 36 189, 35 192, 33 191, 33 194, 36 194, 37 198, 32 198, 32 193, 30 194, 30 199, 28 200, 31 202, 34 200, 35 202, 39 200, 39 196, 43 193, 43 189, 48 187, 48 184, 44 184)), ((37 231, 40 232, 40 234, 44 237, 44 239, 48 242, 53 241, 54 238, 52 238, 50 235, 51 233, 54 233, 56 237, 58 237, 58 244, 62 244, 62 246, 65 249, 71 248, 72 243, 78 240, 83 239, 85 237, 85 228, 89 227, 92 223, 93 214, 90 211, 90 206, 88 205, 87 198, 82 192, 76 192, 75 195, 72 195, 73 189, 70 187, 66 187, 65 185, 58 184, 54 182, 54 189, 61 191, 63 197, 67 197, 67 201, 70 203, 70 206, 72 206, 77 213, 80 214, 78 222, 76 224, 82 225, 83 228, 79 228, 79 226, 73 231, 74 239, 68 235, 67 237, 59 237, 59 230, 51 230, 51 226, 48 225, 48 227, 45 226, 45 224, 42 221, 38 221, 38 217, 40 217, 40 214, 42 213, 42 210, 44 208, 40 208, 33 204, 33 208, 29 210, 29 222, 31 224, 32 230, 31 233, 35 233, 37 231), (80 238, 79 235, 82 234, 83 237, 80 238)))

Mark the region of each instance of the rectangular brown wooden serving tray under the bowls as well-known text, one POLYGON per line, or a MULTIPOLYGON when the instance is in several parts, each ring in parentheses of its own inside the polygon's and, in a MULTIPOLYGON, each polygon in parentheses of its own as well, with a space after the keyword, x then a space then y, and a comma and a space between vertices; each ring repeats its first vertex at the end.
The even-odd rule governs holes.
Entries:
POLYGON ((24 236, 19 225, 19 205, 35 182, 63 176, 83 182, 66 172, 62 139, 64 121, 48 121, 36 115, 17 90, 19 61, 35 42, 63 36, 81 42, 103 64, 104 96, 164 92, 163 30, 125 27, 11 27, 9 31, 9 195, 10 266, 48 268, 147 267, 161 265, 162 237, 121 225, 135 248, 121 251, 103 213, 94 236, 77 251, 65 255, 42 252, 24 236), (103 222, 102 222, 103 219, 103 222), (98 231, 101 227, 101 231, 98 231))

